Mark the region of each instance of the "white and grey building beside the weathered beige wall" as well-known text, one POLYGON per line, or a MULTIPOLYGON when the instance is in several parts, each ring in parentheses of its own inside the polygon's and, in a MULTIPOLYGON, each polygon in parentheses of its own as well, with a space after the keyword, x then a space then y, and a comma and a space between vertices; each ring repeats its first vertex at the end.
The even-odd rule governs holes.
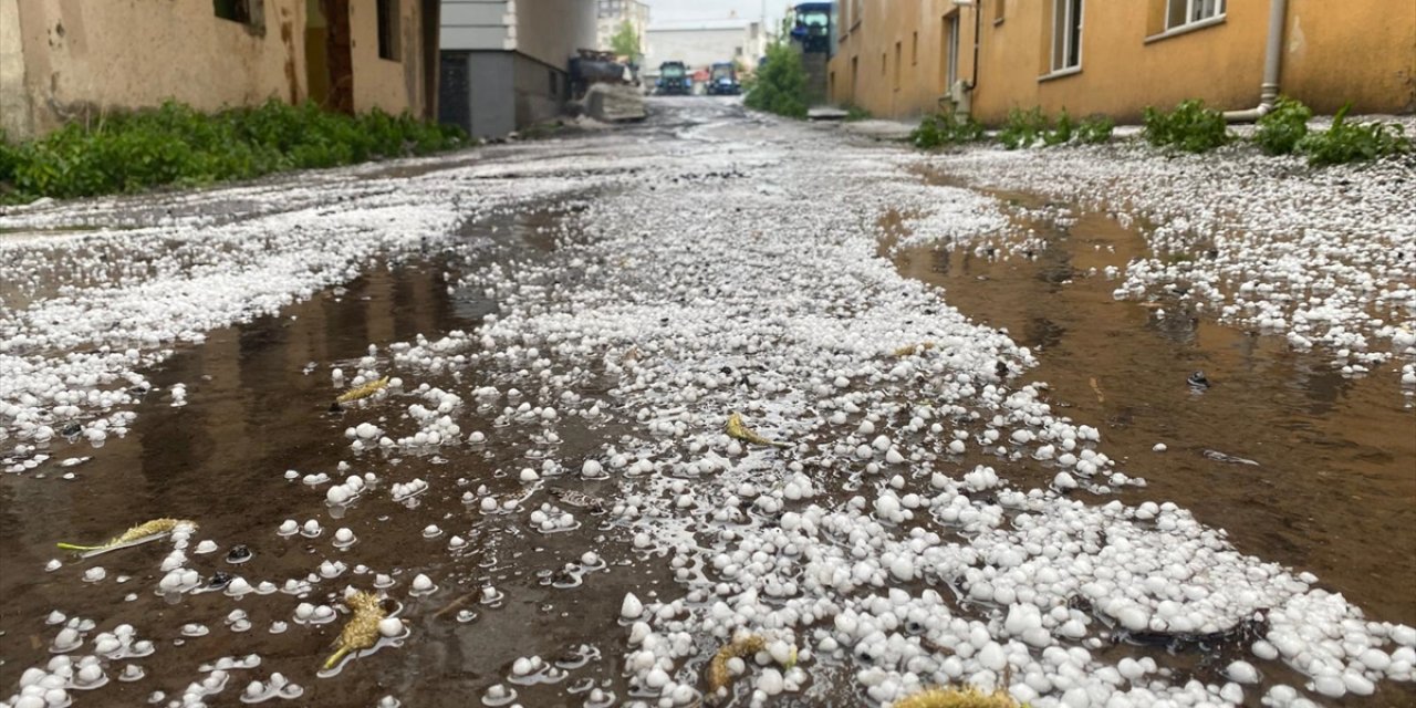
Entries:
POLYGON ((498 137, 561 115, 596 0, 442 0, 439 119, 498 137))

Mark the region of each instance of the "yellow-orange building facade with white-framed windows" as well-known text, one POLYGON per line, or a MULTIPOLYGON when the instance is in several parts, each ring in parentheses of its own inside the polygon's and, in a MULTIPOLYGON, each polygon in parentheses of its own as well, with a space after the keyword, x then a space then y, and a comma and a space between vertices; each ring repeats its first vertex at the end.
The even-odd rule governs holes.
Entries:
POLYGON ((1191 98, 1238 112, 1260 103, 1270 59, 1277 91, 1320 113, 1416 110, 1409 0, 838 0, 838 24, 830 98, 878 116, 1136 122, 1191 98))

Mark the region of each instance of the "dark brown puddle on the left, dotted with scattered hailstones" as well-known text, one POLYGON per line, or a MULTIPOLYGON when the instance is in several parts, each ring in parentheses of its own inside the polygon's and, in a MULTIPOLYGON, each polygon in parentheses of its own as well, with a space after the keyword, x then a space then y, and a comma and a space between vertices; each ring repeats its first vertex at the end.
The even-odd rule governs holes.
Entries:
MULTIPOLYGON (((98 630, 132 623, 140 637, 157 644, 157 651, 140 661, 149 678, 103 690, 112 704, 140 705, 153 691, 166 692, 169 700, 180 698, 187 684, 202 677, 200 664, 256 653, 268 666, 234 671, 228 694, 239 694, 246 683, 265 680, 275 670, 304 688, 302 702, 307 705, 370 705, 379 695, 394 694, 405 705, 463 707, 476 702, 489 685, 504 684, 515 658, 541 656, 555 661, 568 658, 582 644, 598 650, 598 657, 572 670, 565 681, 515 685, 520 702, 579 705, 583 695, 569 695, 568 688, 586 683, 626 698, 620 660, 627 630, 617 622, 620 602, 627 592, 647 602, 671 600, 683 590, 663 559, 641 562, 627 542, 612 542, 623 539, 624 530, 609 524, 607 515, 562 504, 547 489, 558 486, 613 497, 616 481, 548 479, 534 487, 515 514, 486 515, 476 504, 464 503, 463 494, 476 493, 483 484, 497 497, 524 494, 517 470, 539 464, 527 457, 531 447, 527 428, 494 426, 500 406, 472 411, 476 402, 469 398, 469 409, 457 416, 464 430, 487 433, 483 446, 388 456, 353 453, 344 429, 365 421, 405 432, 416 428, 401 418, 412 399, 355 406, 344 415, 326 412, 340 391, 330 381, 333 365, 353 371, 370 343, 412 341, 419 334, 436 338, 455 329, 474 329, 496 312, 496 302, 484 293, 449 292, 457 269, 504 261, 508 255, 534 258, 552 252, 558 235, 566 235, 561 221, 581 208, 551 205, 472 224, 463 236, 484 241, 489 248, 477 244, 470 262, 428 253, 396 268, 371 269, 346 287, 287 307, 279 316, 212 331, 202 346, 178 353, 150 372, 156 388, 142 404, 132 432, 110 439, 101 455, 72 467, 78 480, 59 479, 61 472, 71 470, 51 470, 44 479, 0 477, 0 558, 6 566, 0 572, 0 596, 6 598, 0 610, 6 627, 0 634, 0 657, 4 657, 0 685, 13 687, 27 667, 48 661, 55 629, 44 620, 59 609, 69 616, 93 617, 98 630), (445 273, 453 276, 447 279, 445 273), (306 372, 309 362, 317 365, 306 372), (164 391, 178 382, 185 384, 191 398, 187 405, 173 408, 164 391), (338 460, 351 467, 337 470, 338 460), (323 504, 329 484, 310 487, 299 479, 287 480, 286 470, 302 476, 326 473, 334 481, 374 472, 379 481, 341 517, 334 517, 323 504), (389 496, 392 483, 412 479, 430 486, 416 497, 415 511, 389 496), (535 532, 527 525, 527 515, 542 503, 573 513, 581 525, 549 535, 535 532), (219 548, 210 555, 188 548, 188 566, 202 578, 224 571, 244 576, 251 585, 269 581, 280 586, 286 579, 317 572, 324 559, 343 559, 350 569, 316 582, 302 600, 279 592, 239 600, 202 593, 169 605, 153 592, 161 576, 157 566, 171 549, 169 542, 86 561, 54 548, 61 539, 96 542, 156 517, 200 523, 193 548, 200 539, 217 541, 219 548), (324 531, 317 538, 280 538, 276 528, 286 518, 302 524, 316 518, 324 531), (423 538, 429 523, 443 532, 423 538), (357 538, 348 551, 333 547, 340 527, 350 528, 357 538), (452 535, 466 539, 463 549, 449 551, 452 535), (249 547, 253 558, 228 565, 225 552, 234 544, 249 547), (607 569, 585 572, 573 589, 549 585, 555 571, 592 549, 607 569), (51 558, 62 559, 64 568, 44 572, 51 558), (355 572, 357 564, 367 564, 370 572, 355 572), (98 565, 108 572, 105 582, 79 582, 85 569, 98 565), (438 590, 411 598, 408 590, 419 572, 433 576, 438 590), (330 654, 343 620, 296 623, 292 616, 296 602, 337 605, 346 586, 371 589, 375 573, 392 573, 396 585, 389 593, 404 603, 401 616, 409 623, 411 637, 402 647, 348 663, 334 678, 319 678, 317 670, 330 654), (130 579, 119 583, 119 576, 130 579), (480 602, 487 586, 504 593, 504 600, 480 602), (224 624, 232 609, 246 613, 251 630, 236 633, 224 624), (459 610, 470 612, 459 617, 459 610), (289 630, 270 633, 273 622, 286 622, 289 630), (211 632, 198 639, 184 637, 181 627, 187 623, 204 624, 211 632)), ((379 353, 387 354, 387 350, 379 353)), ((490 375, 401 374, 411 382, 456 391, 481 385, 490 375)), ((555 430, 562 442, 548 456, 575 469, 583 456, 598 450, 600 440, 619 433, 605 423, 583 421, 561 421, 555 430)), ((89 450, 84 446, 55 453, 78 456, 89 450)), ((115 663, 110 673, 116 675, 120 666, 115 663)))

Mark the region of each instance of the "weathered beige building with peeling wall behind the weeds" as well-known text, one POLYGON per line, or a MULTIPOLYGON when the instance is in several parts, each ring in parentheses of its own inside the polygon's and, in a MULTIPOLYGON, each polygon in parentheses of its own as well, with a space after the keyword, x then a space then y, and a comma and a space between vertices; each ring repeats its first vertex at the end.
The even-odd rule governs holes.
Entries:
POLYGON ((435 115, 438 0, 0 0, 0 127, 312 98, 435 115))

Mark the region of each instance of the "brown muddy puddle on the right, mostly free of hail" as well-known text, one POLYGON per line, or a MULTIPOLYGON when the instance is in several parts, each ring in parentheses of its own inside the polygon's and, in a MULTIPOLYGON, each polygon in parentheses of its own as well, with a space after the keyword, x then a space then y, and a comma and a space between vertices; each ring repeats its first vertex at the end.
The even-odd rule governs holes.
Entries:
POLYGON ((1116 302, 1104 268, 1124 270, 1146 244, 1106 215, 1027 225, 1045 236, 1032 259, 912 248, 895 261, 1034 348, 1041 364, 1028 377, 1046 381, 1054 405, 1097 425, 1109 455, 1148 480, 1123 500, 1175 501, 1228 530, 1240 551, 1314 572, 1371 617, 1416 622, 1416 415, 1396 377, 1345 378, 1175 297, 1158 307, 1116 302), (1195 370, 1209 389, 1187 385, 1195 370))

